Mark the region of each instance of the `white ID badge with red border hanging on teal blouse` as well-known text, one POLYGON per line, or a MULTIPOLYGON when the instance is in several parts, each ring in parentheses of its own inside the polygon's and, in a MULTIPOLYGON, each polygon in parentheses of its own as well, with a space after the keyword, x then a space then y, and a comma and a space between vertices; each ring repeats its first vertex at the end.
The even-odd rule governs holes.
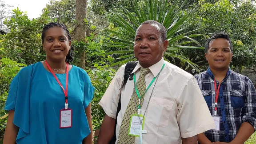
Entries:
POLYGON ((60 110, 60 128, 71 128, 72 127, 72 109, 63 108, 60 110))

